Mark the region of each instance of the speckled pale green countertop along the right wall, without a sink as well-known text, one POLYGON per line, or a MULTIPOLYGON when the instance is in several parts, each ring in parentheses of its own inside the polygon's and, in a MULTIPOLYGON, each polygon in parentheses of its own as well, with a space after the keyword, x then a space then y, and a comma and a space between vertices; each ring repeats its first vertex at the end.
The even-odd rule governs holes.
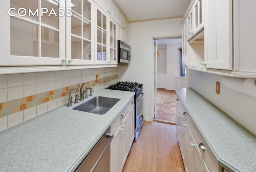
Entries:
POLYGON ((256 172, 256 136, 192 88, 176 90, 218 164, 230 172, 256 172))

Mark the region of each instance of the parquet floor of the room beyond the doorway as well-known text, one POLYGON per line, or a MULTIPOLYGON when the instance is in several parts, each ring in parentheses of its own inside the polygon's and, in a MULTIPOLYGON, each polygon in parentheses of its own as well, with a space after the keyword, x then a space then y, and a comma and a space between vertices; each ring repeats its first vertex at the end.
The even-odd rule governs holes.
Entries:
POLYGON ((176 92, 157 88, 156 90, 156 120, 176 122, 176 92))

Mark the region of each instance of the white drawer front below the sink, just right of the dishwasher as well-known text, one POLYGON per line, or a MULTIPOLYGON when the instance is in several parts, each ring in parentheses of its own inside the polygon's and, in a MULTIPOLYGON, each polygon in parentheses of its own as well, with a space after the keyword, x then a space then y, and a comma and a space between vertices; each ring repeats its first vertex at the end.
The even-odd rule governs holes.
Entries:
POLYGON ((128 112, 129 112, 129 102, 126 103, 124 108, 118 113, 118 115, 116 116, 116 118, 112 122, 112 124, 111 124, 111 133, 116 132, 117 128, 120 126, 120 124, 122 123, 124 118, 127 116, 128 112))

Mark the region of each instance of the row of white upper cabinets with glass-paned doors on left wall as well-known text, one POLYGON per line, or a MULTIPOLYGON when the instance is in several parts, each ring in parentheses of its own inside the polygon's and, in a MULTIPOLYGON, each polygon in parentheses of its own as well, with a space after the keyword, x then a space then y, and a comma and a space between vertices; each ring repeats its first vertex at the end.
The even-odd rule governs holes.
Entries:
POLYGON ((0 66, 117 64, 118 24, 93 0, 4 0, 0 9, 0 66))

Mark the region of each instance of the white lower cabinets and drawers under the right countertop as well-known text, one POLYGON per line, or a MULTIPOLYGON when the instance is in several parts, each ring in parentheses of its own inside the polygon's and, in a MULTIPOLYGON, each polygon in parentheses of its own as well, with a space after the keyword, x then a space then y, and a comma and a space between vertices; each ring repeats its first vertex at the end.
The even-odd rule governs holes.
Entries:
POLYGON ((222 172, 188 110, 179 98, 176 100, 176 132, 186 172, 222 172))

